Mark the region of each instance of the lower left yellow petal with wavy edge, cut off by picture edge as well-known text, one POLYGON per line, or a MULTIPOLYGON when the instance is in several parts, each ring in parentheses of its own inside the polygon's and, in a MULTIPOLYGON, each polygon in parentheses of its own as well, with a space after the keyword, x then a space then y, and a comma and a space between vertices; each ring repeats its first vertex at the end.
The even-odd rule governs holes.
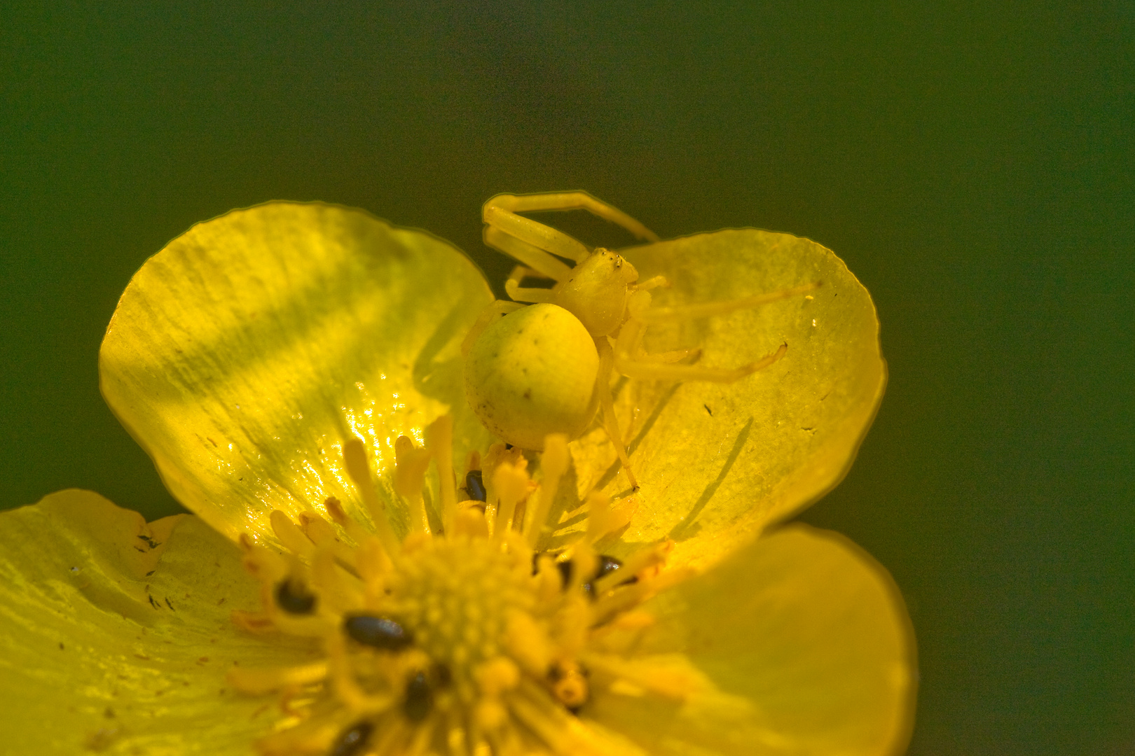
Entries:
POLYGON ((226 671, 318 657, 237 631, 229 612, 259 605, 236 546, 194 517, 148 526, 74 490, 0 513, 5 753, 249 754, 279 713, 226 671))

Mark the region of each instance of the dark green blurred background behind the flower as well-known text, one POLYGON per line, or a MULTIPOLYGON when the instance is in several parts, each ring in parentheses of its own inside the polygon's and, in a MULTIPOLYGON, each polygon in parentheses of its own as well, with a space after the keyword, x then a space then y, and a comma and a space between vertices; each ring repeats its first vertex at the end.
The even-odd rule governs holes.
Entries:
POLYGON ((1135 753, 1135 11, 1066 5, 5 3, 0 506, 177 510, 95 358, 230 207, 365 207, 496 279, 498 192, 791 231, 883 323, 878 419, 804 519, 902 588, 910 754, 1135 753))

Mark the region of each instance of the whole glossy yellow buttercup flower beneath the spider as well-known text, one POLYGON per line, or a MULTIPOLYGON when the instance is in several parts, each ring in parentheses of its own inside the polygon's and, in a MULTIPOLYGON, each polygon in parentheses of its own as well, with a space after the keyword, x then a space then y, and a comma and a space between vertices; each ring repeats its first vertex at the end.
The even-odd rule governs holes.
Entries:
POLYGON ((446 243, 285 203, 175 239, 123 295, 102 389, 212 529, 86 492, 0 515, 7 742, 900 750, 914 646, 885 571, 834 534, 765 532, 842 477, 877 408, 869 297, 787 235, 624 254, 675 301, 824 281, 651 332, 706 360, 790 346, 737 384, 616 384, 637 491, 598 430, 494 448, 461 366, 491 295, 446 243))

